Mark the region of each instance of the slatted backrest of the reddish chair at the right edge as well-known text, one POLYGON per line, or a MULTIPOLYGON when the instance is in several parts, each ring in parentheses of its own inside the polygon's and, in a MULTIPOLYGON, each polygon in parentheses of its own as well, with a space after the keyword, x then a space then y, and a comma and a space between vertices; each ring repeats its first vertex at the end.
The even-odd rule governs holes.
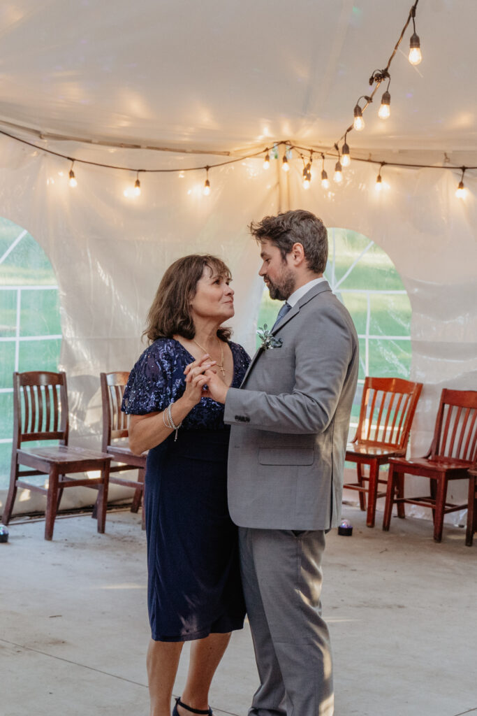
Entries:
POLYGON ((441 393, 431 457, 476 460, 477 390, 448 390, 441 393))

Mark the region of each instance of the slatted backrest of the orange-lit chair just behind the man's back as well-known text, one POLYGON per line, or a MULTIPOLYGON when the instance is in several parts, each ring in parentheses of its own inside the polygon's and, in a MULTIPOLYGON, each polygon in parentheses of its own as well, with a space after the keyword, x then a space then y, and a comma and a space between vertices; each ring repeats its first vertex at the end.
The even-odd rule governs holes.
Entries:
POLYGON ((404 449, 421 390, 421 383, 367 377, 355 439, 404 449))

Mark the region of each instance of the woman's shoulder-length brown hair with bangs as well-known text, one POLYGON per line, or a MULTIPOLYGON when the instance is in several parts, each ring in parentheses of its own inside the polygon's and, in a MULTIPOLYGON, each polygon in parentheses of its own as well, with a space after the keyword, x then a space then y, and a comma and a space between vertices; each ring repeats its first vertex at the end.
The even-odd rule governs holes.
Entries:
MULTIPOLYGON (((146 329, 149 343, 158 338, 172 338, 174 335, 192 340, 195 326, 190 312, 190 301, 197 291, 197 282, 202 278, 205 266, 221 278, 231 279, 230 269, 217 256, 209 253, 192 253, 174 261, 162 276, 152 306, 147 314, 146 329)), ((217 336, 227 341, 232 334, 230 328, 217 330, 217 336)))

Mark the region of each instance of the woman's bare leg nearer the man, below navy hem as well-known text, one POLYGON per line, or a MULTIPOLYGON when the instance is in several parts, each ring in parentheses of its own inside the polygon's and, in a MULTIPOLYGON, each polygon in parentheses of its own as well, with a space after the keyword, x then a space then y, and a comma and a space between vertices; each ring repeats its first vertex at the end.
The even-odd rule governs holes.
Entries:
MULTIPOLYGON (((190 645, 187 683, 180 697, 187 706, 192 706, 194 709, 209 707, 210 684, 229 642, 230 633, 209 634, 205 639, 197 639, 190 645)), ((178 707, 177 710, 181 716, 190 716, 190 712, 182 707, 178 707)))

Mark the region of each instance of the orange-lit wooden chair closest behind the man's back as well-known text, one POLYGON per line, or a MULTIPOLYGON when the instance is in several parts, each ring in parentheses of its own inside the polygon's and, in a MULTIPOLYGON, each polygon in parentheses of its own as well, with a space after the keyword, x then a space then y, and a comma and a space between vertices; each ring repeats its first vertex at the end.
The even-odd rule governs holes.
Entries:
POLYGON ((380 465, 391 457, 405 455, 422 387, 422 383, 401 378, 365 378, 358 429, 346 448, 346 460, 356 463, 358 482, 343 486, 358 490, 363 511, 368 493, 368 527, 374 527, 376 500, 386 494, 385 490, 378 493, 378 485, 388 482, 387 478, 379 479, 380 465), (363 473, 363 465, 369 465, 369 475, 363 473))

